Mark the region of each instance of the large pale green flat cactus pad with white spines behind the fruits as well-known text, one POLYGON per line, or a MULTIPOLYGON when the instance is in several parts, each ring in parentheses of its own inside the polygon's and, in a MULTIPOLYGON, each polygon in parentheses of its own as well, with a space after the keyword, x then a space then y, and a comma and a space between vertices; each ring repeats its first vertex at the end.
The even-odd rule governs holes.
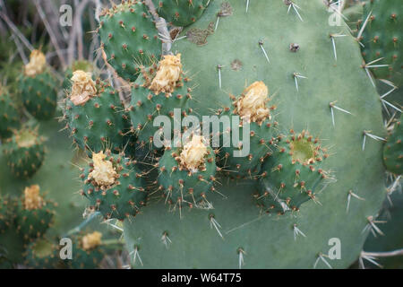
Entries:
POLYGON ((328 10, 322 0, 216 0, 172 50, 194 74, 195 113, 229 107, 228 94, 262 81, 276 94, 279 131, 321 138, 330 154, 322 169, 337 182, 284 215, 256 207, 255 180, 223 178, 208 198, 214 208, 182 210, 182 219, 150 200, 124 222, 133 267, 345 268, 356 260, 384 196, 385 129, 358 43, 345 26, 330 26, 328 10), (335 238, 341 257, 330 260, 335 238))

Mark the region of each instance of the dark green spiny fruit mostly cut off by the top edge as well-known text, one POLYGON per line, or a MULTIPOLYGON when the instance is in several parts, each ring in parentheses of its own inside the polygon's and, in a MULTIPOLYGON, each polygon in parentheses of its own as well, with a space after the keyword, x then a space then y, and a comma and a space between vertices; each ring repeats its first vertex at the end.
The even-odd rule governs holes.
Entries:
POLYGON ((159 16, 175 26, 185 27, 196 22, 210 0, 154 0, 159 16))

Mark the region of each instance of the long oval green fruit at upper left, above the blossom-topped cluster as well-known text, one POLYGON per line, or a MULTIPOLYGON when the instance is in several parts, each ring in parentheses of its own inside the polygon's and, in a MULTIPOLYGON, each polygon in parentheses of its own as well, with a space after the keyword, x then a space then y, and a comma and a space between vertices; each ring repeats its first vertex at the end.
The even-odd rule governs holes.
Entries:
POLYGON ((99 20, 104 58, 124 80, 134 82, 141 65, 159 60, 162 46, 146 4, 122 1, 104 10, 99 20))

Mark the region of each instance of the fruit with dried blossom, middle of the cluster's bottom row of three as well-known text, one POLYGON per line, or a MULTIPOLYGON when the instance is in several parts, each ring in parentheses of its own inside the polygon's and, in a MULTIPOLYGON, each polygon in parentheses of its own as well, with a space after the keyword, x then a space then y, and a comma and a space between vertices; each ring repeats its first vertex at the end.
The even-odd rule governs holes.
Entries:
POLYGON ((214 190, 216 170, 214 151, 200 135, 193 135, 183 148, 164 152, 159 160, 159 189, 169 204, 198 206, 214 190))

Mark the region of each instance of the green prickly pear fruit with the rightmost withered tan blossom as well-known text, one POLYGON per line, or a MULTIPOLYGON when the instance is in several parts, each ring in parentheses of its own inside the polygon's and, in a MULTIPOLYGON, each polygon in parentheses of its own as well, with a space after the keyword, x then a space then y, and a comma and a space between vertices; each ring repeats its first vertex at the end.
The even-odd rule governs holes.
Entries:
POLYGON ((267 105, 269 90, 262 82, 255 82, 247 87, 242 95, 237 99, 233 97, 233 108, 225 108, 221 116, 227 116, 231 121, 229 131, 223 131, 223 147, 219 150, 219 165, 227 172, 228 176, 235 178, 252 178, 261 170, 262 162, 270 154, 270 144, 273 143, 277 123, 271 115, 271 110, 275 106, 267 105), (234 152, 244 148, 243 126, 233 126, 231 116, 238 116, 249 124, 250 133, 248 136, 249 153, 246 156, 235 156, 234 152), (236 128, 239 138, 235 142, 233 138, 233 129, 236 128), (227 141, 226 139, 227 134, 227 141), (229 142, 229 144, 228 144, 229 142))

